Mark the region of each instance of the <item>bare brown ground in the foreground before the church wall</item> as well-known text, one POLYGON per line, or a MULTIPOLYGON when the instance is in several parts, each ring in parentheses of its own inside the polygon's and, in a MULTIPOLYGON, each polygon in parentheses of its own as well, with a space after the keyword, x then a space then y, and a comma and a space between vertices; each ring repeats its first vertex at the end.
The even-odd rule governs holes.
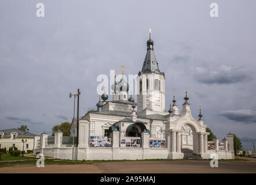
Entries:
POLYGON ((125 161, 76 165, 17 165, 0 168, 0 173, 256 173, 256 158, 249 161, 125 161))

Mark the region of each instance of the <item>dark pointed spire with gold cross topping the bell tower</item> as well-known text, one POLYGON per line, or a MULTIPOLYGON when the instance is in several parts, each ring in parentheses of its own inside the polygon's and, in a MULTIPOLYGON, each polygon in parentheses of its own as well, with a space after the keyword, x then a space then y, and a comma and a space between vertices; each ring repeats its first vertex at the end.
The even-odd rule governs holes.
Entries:
POLYGON ((164 75, 163 72, 160 72, 158 67, 158 62, 156 61, 155 53, 153 52, 153 40, 151 39, 151 31, 149 29, 149 40, 147 41, 147 54, 142 66, 141 71, 138 73, 140 76, 142 73, 157 73, 159 75, 164 75))

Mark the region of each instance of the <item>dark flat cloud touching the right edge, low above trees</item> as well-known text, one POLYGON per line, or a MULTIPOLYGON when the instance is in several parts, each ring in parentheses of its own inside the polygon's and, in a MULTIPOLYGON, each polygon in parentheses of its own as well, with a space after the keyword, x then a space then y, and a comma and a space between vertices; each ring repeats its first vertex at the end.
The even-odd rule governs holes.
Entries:
POLYGON ((243 122, 243 123, 256 123, 256 112, 253 110, 226 110, 220 113, 229 120, 243 122))

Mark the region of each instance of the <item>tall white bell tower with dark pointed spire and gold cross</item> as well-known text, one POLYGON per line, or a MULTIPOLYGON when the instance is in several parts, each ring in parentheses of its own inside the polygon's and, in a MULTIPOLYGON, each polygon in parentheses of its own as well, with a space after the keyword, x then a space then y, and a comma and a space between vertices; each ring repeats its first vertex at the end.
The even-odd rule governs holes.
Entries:
POLYGON ((154 112, 164 112, 165 109, 165 77, 160 72, 158 62, 153 52, 153 40, 149 29, 147 54, 141 71, 137 77, 137 105, 138 113, 145 109, 154 112))

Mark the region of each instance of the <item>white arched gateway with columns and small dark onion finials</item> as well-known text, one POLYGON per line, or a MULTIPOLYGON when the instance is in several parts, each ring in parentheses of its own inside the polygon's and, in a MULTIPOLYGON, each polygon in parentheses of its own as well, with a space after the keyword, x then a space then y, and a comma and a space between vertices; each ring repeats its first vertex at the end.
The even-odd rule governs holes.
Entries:
POLYGON ((184 125, 187 125, 192 130, 193 135, 193 153, 204 157, 207 153, 207 135, 206 125, 203 124, 201 119, 202 115, 199 114, 200 119, 196 121, 190 109, 190 104, 188 103, 188 97, 184 98, 186 101, 182 105, 181 115, 177 114, 178 108, 175 105, 170 108, 170 115, 167 118, 166 124, 166 138, 169 146, 169 158, 183 158, 184 153, 181 151, 181 139, 182 132, 184 132, 184 125))

